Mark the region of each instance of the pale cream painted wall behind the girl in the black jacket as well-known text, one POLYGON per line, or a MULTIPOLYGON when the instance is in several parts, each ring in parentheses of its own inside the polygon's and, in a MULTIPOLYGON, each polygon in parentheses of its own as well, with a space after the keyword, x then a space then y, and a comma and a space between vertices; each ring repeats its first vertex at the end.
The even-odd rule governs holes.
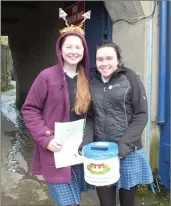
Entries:
MULTIPOLYGON (((139 74, 143 81, 148 97, 151 97, 150 115, 151 121, 148 121, 143 135, 143 143, 152 169, 158 165, 158 140, 159 128, 156 125, 157 103, 158 103, 158 73, 159 73, 159 8, 156 6, 152 18, 152 78, 151 87, 149 87, 148 77, 148 49, 149 49, 149 22, 147 18, 135 23, 129 24, 126 21, 117 21, 124 18, 128 21, 137 21, 142 17, 148 17, 153 12, 153 1, 110 1, 106 0, 105 5, 113 20, 113 42, 121 47, 123 60, 126 66, 139 74), (117 22, 116 22, 117 21, 117 22), (148 93, 151 91, 150 93, 148 93), (151 139, 150 139, 151 138, 151 139)), ((149 102, 149 99, 148 99, 149 102)), ((150 105, 150 104, 149 104, 150 105)))

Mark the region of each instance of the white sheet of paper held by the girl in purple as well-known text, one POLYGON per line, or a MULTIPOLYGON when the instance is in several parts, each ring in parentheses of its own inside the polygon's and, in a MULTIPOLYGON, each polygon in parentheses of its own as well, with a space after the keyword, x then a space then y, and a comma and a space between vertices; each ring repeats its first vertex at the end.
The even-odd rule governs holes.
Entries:
POLYGON ((83 163, 78 148, 83 139, 84 119, 74 122, 55 122, 55 139, 63 147, 54 153, 56 168, 83 163))

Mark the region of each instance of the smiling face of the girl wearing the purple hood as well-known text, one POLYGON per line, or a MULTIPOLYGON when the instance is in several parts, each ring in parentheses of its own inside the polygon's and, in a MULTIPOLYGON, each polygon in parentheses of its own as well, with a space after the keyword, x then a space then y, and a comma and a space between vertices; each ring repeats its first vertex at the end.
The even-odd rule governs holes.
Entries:
POLYGON ((78 36, 67 36, 62 45, 62 56, 68 65, 77 65, 83 58, 84 47, 78 36))

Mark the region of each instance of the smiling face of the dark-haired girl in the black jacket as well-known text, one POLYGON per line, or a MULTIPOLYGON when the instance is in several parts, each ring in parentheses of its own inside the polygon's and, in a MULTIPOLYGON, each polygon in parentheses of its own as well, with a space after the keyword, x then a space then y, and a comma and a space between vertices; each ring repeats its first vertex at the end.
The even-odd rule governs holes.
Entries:
POLYGON ((117 70, 118 58, 113 47, 102 47, 96 52, 96 67, 97 70, 107 80, 117 70))

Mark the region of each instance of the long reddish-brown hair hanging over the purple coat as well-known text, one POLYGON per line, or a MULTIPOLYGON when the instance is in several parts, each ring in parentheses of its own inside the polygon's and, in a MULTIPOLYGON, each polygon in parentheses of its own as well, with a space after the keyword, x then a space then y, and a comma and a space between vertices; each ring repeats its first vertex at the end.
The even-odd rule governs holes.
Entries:
MULTIPOLYGON (((67 36, 62 40, 61 47, 66 38, 67 36)), ((89 81, 86 77, 83 64, 78 63, 77 73, 78 73, 77 88, 75 91, 76 95, 75 95, 75 104, 73 110, 77 115, 82 115, 82 114, 86 114, 89 110, 90 103, 91 103, 91 93, 90 93, 89 81)))

